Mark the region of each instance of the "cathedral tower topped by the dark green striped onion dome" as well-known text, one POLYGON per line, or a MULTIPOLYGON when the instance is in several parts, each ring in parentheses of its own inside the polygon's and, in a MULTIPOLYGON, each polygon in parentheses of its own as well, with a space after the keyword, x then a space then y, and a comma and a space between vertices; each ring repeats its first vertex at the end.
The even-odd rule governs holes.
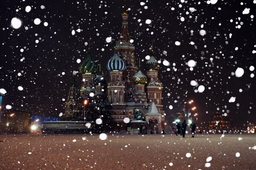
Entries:
POLYGON ((94 78, 99 71, 99 65, 92 60, 90 47, 87 56, 79 67, 79 71, 83 76, 83 85, 80 90, 81 95, 85 94, 88 96, 92 92, 95 93, 94 78))

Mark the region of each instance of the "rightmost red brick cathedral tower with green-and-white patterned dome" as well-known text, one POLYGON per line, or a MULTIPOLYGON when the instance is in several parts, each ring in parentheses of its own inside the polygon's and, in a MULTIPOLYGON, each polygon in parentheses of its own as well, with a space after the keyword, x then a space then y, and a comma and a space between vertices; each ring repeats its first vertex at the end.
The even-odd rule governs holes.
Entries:
POLYGON ((157 109, 160 113, 163 113, 163 105, 162 105, 162 90, 163 85, 158 79, 158 70, 160 68, 157 59, 153 56, 154 49, 153 45, 151 48, 151 57, 146 61, 146 71, 148 77, 148 83, 146 87, 146 93, 148 98, 148 103, 154 101, 157 109))

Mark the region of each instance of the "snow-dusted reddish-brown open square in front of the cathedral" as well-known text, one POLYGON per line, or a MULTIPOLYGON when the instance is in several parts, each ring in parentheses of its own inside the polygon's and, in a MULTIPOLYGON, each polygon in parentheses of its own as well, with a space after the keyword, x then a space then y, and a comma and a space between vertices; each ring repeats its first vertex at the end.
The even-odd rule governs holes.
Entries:
POLYGON ((256 135, 0 135, 0 170, 255 170, 256 135))

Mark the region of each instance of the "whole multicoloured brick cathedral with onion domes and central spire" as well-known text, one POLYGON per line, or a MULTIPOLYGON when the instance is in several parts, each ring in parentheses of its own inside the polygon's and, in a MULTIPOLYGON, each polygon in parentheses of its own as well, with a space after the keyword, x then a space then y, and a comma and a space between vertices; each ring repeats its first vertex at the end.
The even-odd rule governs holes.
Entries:
MULTIPOLYGON (((105 102, 111 105, 111 129, 127 130, 128 126, 138 128, 141 123, 147 124, 148 128, 154 125, 158 132, 164 129, 163 85, 158 79, 160 65, 153 56, 152 46, 151 57, 145 65, 146 75, 140 70, 140 64, 137 65, 134 55, 135 47, 130 41, 128 16, 127 11, 122 13, 120 37, 114 47, 113 57, 107 62, 109 81, 105 81, 100 65, 93 60, 89 47, 87 57, 79 67, 83 84, 79 89, 73 77, 65 104, 64 119, 78 120, 77 117, 83 115, 84 107, 86 108, 84 102, 87 102, 85 101, 87 97, 102 99, 94 102, 104 102, 105 96, 105 102), (130 119, 129 125, 124 122, 124 118, 130 119)), ((85 116, 84 119, 86 119, 85 116)))

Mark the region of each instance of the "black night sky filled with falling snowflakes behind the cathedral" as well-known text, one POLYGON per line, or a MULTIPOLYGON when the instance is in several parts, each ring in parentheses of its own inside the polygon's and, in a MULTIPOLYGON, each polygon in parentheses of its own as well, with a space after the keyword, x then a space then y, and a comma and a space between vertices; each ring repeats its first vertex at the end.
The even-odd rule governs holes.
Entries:
MULTIPOLYGON (((119 37, 121 13, 128 10, 137 61, 141 59, 144 67, 153 40, 154 56, 162 62, 159 78, 167 115, 180 112, 184 102, 193 99, 199 120, 208 120, 219 110, 236 123, 256 123, 256 80, 251 78, 255 70, 249 69, 256 67, 255 3, 133 0, 124 8, 122 0, 0 0, 0 88, 7 91, 3 105, 48 116, 64 112, 62 99, 67 99, 72 71, 79 71, 76 60, 86 56, 89 39, 93 59, 102 64, 108 79, 106 63, 119 37), (26 12, 26 6, 31 11, 26 12), (243 14, 245 8, 250 8, 249 14, 243 14), (22 21, 18 29, 11 26, 14 17, 22 21), (146 24, 147 19, 152 23, 146 24), (71 34, 79 28, 81 32, 71 34), (206 34, 200 35, 200 30, 206 34), (112 37, 110 43, 107 37, 112 37), (175 45, 176 41, 181 44, 175 45), (163 65, 164 59, 170 66, 163 65), (189 60, 197 62, 192 71, 186 64, 189 60), (244 69, 242 77, 234 75, 237 68, 244 69), (195 92, 198 87, 190 85, 192 80, 204 85, 203 93, 195 92), (235 102, 229 102, 232 96, 235 102)), ((81 74, 76 76, 81 85, 81 74)))

